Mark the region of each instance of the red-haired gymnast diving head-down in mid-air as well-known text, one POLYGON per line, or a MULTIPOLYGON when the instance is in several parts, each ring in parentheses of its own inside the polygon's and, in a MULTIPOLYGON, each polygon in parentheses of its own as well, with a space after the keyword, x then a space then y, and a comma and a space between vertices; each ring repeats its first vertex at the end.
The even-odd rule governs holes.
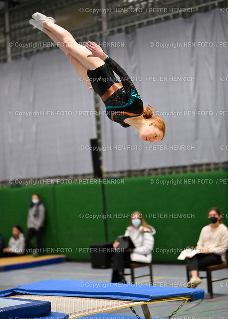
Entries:
POLYGON ((165 123, 154 115, 153 107, 143 107, 134 84, 127 73, 94 42, 78 44, 73 36, 58 26, 55 19, 36 12, 29 23, 46 33, 75 67, 78 75, 99 94, 107 116, 123 127, 133 127, 140 139, 157 142, 165 135, 165 123), (113 71, 120 77, 115 77, 113 71))

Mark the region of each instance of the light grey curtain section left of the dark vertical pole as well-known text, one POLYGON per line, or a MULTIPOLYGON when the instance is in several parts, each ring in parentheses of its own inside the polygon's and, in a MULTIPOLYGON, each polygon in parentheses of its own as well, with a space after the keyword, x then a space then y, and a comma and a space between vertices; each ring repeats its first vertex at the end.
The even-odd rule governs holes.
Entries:
POLYGON ((0 180, 92 172, 95 117, 82 111, 94 109, 93 91, 65 54, 1 64, 0 74, 0 180))

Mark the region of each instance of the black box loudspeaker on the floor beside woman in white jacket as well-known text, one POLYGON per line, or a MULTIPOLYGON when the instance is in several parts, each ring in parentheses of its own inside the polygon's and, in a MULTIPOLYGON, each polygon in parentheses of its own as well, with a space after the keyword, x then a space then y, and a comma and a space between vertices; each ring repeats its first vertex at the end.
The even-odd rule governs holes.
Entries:
POLYGON ((91 245, 90 255, 92 268, 111 268, 114 253, 115 249, 112 243, 91 245))

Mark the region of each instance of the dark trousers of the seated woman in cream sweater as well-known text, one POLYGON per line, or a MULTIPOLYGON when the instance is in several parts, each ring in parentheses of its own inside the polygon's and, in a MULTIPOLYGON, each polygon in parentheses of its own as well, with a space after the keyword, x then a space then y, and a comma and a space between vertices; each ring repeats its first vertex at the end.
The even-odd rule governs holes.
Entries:
POLYGON ((192 258, 187 258, 189 270, 200 270, 207 266, 222 264, 220 255, 216 254, 196 254, 192 258))

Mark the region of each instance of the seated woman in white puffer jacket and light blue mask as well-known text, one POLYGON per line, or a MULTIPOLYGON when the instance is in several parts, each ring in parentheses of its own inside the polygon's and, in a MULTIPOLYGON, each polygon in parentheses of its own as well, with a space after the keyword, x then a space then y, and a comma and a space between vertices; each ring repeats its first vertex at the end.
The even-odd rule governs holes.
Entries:
MULTIPOLYGON (((154 247, 155 229, 148 225, 140 212, 131 215, 131 221, 124 236, 129 236, 135 245, 134 249, 116 249, 113 256, 112 282, 126 283, 124 279, 124 266, 130 262, 150 263, 152 261, 152 250, 154 247)), ((118 248, 119 242, 115 241, 114 248, 118 248)))

